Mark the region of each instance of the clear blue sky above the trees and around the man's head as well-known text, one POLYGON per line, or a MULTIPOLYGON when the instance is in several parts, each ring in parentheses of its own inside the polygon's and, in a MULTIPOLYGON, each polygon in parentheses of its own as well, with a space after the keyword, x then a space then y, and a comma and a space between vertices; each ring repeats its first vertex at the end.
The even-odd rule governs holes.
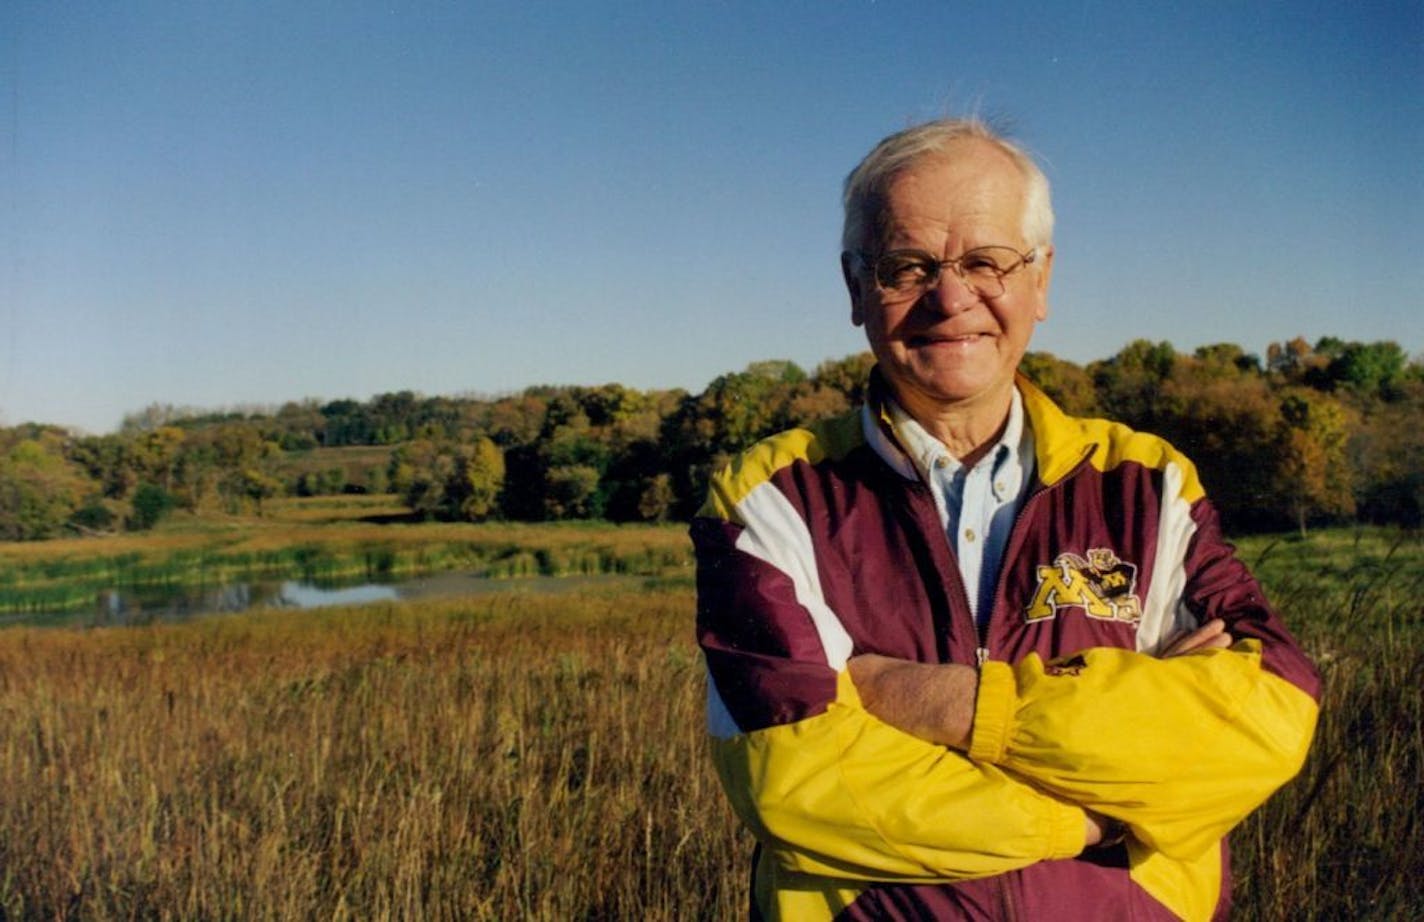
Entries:
POLYGON ((0 425, 864 348, 844 174, 977 110, 1075 362, 1424 352, 1424 4, 0 3, 0 425))

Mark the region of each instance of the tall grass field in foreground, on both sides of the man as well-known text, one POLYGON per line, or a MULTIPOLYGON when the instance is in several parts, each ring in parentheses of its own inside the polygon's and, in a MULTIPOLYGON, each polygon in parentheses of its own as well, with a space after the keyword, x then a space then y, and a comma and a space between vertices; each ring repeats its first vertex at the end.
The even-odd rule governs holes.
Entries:
MULTIPOLYGON (((1235 918, 1418 918, 1424 546, 1242 553, 1324 707, 1233 834, 1235 918)), ((691 613, 684 579, 0 630, 0 918, 740 918, 691 613)))

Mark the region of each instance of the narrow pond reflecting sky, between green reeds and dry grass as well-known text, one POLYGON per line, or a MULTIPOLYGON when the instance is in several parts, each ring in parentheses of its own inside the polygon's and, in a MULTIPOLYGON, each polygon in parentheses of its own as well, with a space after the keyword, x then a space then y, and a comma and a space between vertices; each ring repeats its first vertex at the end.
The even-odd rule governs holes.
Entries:
POLYGON ((644 577, 534 576, 490 579, 470 573, 441 573, 392 583, 350 586, 305 580, 244 581, 225 586, 158 586, 108 589, 97 594, 88 611, 24 611, 0 616, 0 627, 122 627, 154 621, 181 621, 198 616, 231 614, 252 608, 320 608, 376 601, 457 599, 488 593, 561 593, 590 586, 641 584, 644 577))

